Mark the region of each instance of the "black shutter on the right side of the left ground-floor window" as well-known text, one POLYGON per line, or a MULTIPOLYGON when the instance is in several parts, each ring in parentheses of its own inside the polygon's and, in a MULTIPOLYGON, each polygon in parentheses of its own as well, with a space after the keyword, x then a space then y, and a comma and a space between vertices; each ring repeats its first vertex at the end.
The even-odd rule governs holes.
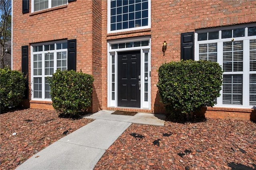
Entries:
POLYGON ((68 70, 76 71, 76 39, 68 40, 68 70))

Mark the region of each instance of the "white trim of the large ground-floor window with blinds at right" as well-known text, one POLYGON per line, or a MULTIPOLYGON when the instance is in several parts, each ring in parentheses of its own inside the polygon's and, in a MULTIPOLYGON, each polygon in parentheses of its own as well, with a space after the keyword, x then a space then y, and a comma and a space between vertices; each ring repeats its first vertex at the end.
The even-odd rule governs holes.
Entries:
POLYGON ((195 60, 199 60, 199 44, 205 44, 205 43, 217 43, 217 62, 222 66, 223 65, 223 42, 230 42, 231 38, 221 39, 221 32, 220 30, 229 30, 229 29, 236 29, 236 28, 246 28, 246 33, 244 37, 238 37, 234 38, 234 41, 243 41, 243 71, 234 71, 234 72, 224 72, 224 74, 242 74, 243 75, 243 90, 242 90, 242 105, 226 105, 222 104, 222 89, 220 91, 220 97, 217 98, 217 104, 215 107, 229 107, 229 108, 254 108, 254 106, 251 106, 250 98, 249 98, 249 75, 250 74, 256 74, 256 71, 250 71, 249 65, 250 65, 250 58, 245 57, 250 55, 250 48, 249 43, 250 40, 255 40, 256 36, 247 36, 248 28, 255 26, 255 24, 245 24, 245 25, 239 25, 239 26, 228 26, 223 28, 212 28, 212 29, 206 29, 206 30, 198 30, 195 32, 195 60), (213 31, 219 31, 219 39, 218 40, 204 40, 204 41, 198 41, 198 33, 204 33, 204 32, 213 32, 213 31))

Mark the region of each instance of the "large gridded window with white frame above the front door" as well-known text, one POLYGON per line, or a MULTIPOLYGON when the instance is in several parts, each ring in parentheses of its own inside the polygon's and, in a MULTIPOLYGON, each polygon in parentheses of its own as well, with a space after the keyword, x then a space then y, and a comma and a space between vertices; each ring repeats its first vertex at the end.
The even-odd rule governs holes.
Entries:
POLYGON ((108 32, 150 28, 150 0, 109 0, 108 32))

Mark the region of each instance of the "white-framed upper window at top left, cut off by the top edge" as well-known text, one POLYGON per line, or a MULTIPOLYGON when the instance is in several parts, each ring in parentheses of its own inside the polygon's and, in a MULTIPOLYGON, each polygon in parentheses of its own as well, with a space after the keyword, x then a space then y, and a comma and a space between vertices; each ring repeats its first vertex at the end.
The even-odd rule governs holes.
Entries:
POLYGON ((32 0, 32 11, 36 12, 64 4, 68 4, 68 0, 32 0))

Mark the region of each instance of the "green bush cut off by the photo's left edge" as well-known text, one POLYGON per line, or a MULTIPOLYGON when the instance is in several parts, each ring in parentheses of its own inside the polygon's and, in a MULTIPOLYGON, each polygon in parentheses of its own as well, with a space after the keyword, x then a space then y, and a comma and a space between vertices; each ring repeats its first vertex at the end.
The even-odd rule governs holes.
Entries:
POLYGON ((26 77, 20 71, 12 71, 5 67, 0 69, 0 108, 1 112, 20 104, 24 91, 26 77))

